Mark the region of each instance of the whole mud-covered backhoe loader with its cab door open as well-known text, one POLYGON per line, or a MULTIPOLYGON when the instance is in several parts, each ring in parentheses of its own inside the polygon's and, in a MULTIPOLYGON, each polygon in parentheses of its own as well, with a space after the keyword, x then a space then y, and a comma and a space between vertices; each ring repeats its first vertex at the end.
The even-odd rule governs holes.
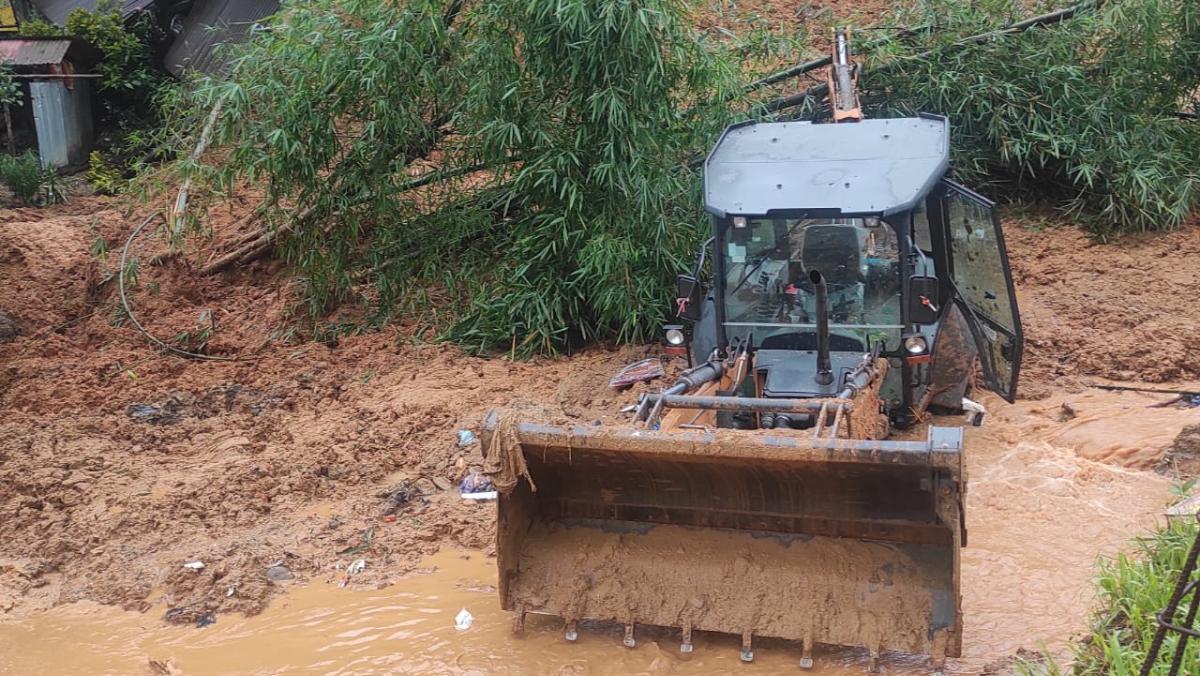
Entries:
MULTIPOLYGON (((1012 400, 1021 329, 992 204, 947 180, 944 118, 734 125, 704 164, 713 237, 678 280, 690 367, 635 423, 492 414, 499 594, 526 614, 923 653, 961 651, 960 427, 895 439, 968 388, 1012 400), (976 366, 978 365, 978 367, 976 366), (887 438, 887 437, 893 438, 887 438)), ((968 403, 970 400, 967 400, 968 403)))

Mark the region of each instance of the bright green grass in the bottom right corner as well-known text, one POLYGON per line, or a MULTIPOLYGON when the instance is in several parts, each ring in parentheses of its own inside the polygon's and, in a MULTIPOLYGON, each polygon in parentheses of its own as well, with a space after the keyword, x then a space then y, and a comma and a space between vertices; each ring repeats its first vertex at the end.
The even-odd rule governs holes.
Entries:
MULTIPOLYGON (((1096 581, 1099 610, 1090 634, 1075 648, 1073 664, 1064 666, 1051 659, 1019 664, 1018 671, 1024 676, 1136 676, 1158 628, 1154 616, 1166 606, 1196 533, 1194 522, 1172 524, 1134 540, 1132 552, 1102 560, 1096 581)), ((1188 600, 1181 604, 1181 620, 1188 600)), ((1178 636, 1168 633, 1152 676, 1169 672, 1177 644, 1178 636)), ((1198 664, 1200 640, 1193 640, 1180 674, 1194 674, 1198 664)))

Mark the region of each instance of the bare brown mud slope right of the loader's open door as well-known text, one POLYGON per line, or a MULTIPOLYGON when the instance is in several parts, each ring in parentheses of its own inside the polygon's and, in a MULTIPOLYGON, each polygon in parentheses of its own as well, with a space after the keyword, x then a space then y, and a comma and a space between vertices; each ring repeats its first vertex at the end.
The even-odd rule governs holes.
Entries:
POLYGON ((1096 244, 1072 227, 1008 225, 1025 322, 1022 388, 1042 396, 1085 376, 1200 377, 1200 227, 1096 244))

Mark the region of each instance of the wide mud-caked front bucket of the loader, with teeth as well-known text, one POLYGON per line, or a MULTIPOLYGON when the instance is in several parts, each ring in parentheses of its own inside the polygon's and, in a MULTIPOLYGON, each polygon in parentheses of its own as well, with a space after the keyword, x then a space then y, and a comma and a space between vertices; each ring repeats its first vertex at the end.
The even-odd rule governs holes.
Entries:
POLYGON ((961 430, 484 425, 504 609, 924 653, 961 650, 961 430))

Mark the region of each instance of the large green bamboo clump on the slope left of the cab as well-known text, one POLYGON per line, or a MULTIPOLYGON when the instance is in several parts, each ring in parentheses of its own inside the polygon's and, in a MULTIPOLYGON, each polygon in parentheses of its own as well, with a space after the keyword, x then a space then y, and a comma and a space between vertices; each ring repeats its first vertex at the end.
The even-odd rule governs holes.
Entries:
POLYGON ((736 89, 734 61, 683 12, 677 0, 296 5, 232 77, 172 98, 179 155, 222 106, 220 162, 175 169, 215 192, 265 187, 314 317, 355 297, 386 316, 438 285, 458 315, 446 335, 476 348, 643 340, 698 238, 684 167, 726 119, 703 102, 736 89))

